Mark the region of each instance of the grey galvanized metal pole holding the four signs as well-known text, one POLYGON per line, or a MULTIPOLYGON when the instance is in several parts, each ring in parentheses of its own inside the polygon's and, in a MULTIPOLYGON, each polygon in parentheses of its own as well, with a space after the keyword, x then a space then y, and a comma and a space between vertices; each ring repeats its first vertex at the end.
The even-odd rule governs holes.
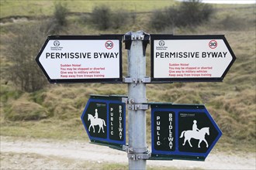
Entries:
MULTIPOLYGON (((128 49, 128 113, 129 147, 126 149, 130 169, 146 169, 146 57, 144 32, 128 32, 125 35, 128 49)), ((148 35, 149 37, 149 35, 148 35)))

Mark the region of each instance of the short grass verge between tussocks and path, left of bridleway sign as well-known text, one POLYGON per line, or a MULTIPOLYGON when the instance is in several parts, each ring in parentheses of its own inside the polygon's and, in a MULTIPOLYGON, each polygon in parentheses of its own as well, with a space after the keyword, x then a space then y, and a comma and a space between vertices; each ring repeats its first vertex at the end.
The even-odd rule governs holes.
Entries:
POLYGON ((22 138, 50 138, 62 141, 71 139, 88 141, 80 118, 74 118, 67 122, 54 119, 5 122, 1 124, 1 135, 22 138))

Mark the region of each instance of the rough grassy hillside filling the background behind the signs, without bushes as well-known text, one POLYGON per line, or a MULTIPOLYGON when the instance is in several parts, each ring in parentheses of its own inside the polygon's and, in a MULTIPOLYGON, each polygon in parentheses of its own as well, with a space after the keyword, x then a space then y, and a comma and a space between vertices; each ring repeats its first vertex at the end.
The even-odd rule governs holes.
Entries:
MULTIPOLYGON (((256 20, 253 7, 250 5, 214 5, 214 15, 208 22, 200 26, 168 28, 157 31, 148 26, 148 21, 153 15, 154 9, 175 5, 178 2, 159 1, 153 3, 153 1, 150 1, 143 10, 141 5, 138 5, 140 6, 138 7, 129 3, 126 10, 136 14, 136 18, 134 16, 133 22, 130 22, 129 26, 121 26, 119 29, 99 30, 81 21, 81 19, 84 19, 82 17, 88 15, 88 12, 92 12, 94 7, 92 1, 85 1, 87 3, 78 2, 78 4, 67 2, 67 8, 69 8, 67 25, 61 29, 61 35, 124 34, 137 30, 144 30, 151 34, 225 35, 237 56, 237 60, 222 83, 148 84, 147 99, 149 102, 205 104, 209 113, 223 131, 223 137, 220 138, 216 148, 223 151, 230 151, 234 148, 239 151, 255 151, 256 20)), ((7 69, 12 66, 12 62, 8 60, 9 56, 2 52, 12 48, 9 43, 12 41, 9 41, 9 39, 19 34, 26 34, 26 31, 24 31, 26 29, 22 29, 23 26, 40 25, 44 23, 43 21, 49 19, 54 11, 53 2, 26 1, 22 5, 19 3, 18 1, 1 2, 1 135, 22 138, 88 140, 80 116, 89 95, 126 95, 127 85, 124 83, 47 84, 43 90, 31 93, 19 90, 15 83, 8 78, 11 71, 7 69), (29 8, 29 10, 26 10, 26 8, 29 8), (15 19, 18 19, 18 21, 15 19)), ((102 1, 97 3, 102 3, 102 1)), ((109 3, 115 3, 115 5, 112 5, 113 10, 117 10, 124 5, 122 1, 118 1, 118 3, 109 1, 109 3)), ((140 3, 144 4, 144 1, 140 3)), ((29 32, 28 34, 31 38, 31 36, 36 36, 36 33, 29 32)), ((44 34, 43 37, 40 43, 41 46, 43 46, 43 41, 47 38, 47 35, 44 34)), ((33 43, 32 40, 30 43, 33 43)), ((26 44, 24 44, 24 48, 26 48, 26 44)), ((36 50, 39 51, 40 49, 36 50)), ((34 58, 36 54, 34 54, 34 58)), ((147 75, 150 76, 149 46, 147 47, 146 56, 147 75)), ((127 52, 123 47, 123 76, 126 76, 126 59, 127 52)), ((20 68, 16 69, 19 70, 20 68)), ((33 72, 33 70, 31 71, 33 72)), ((43 74, 40 76, 43 76, 43 74)), ((150 143, 150 110, 147 113, 147 139, 150 143)))

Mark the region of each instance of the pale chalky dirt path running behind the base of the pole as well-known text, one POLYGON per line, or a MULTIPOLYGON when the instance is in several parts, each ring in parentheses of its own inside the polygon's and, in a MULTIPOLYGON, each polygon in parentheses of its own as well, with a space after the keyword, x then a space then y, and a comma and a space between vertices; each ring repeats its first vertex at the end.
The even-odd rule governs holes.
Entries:
MULTIPOLYGON (((147 161, 147 165, 182 169, 256 169, 255 161, 255 153, 227 155, 213 151, 206 162, 147 161)), ((105 162, 126 165, 126 152, 81 141, 1 137, 1 169, 92 169, 95 164, 105 162)))

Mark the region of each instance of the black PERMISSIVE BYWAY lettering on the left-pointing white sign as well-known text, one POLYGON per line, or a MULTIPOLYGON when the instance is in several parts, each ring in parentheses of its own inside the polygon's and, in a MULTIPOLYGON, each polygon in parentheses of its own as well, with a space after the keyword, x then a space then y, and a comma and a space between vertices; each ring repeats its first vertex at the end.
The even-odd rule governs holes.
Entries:
POLYGON ((46 53, 47 59, 116 59, 119 53, 46 53))

